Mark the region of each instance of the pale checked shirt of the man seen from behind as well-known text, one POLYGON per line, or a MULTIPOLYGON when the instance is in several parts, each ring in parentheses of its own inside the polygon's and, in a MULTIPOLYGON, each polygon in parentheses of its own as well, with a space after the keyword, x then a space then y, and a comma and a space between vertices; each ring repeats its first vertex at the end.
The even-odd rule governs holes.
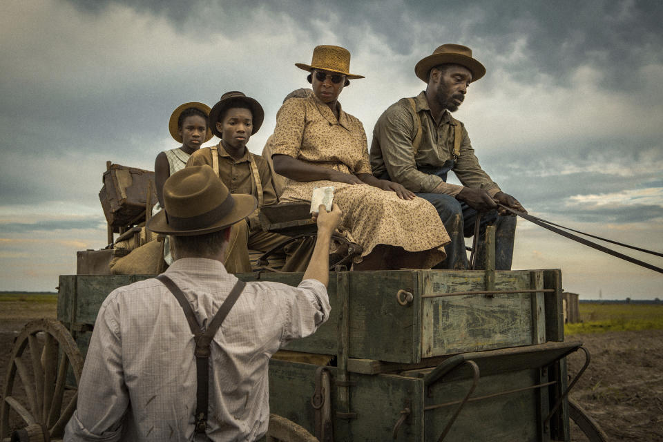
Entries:
MULTIPOLYGON (((237 278, 216 260, 176 260, 165 274, 207 325, 237 278)), ((289 287, 249 282, 211 343, 207 437, 254 441, 269 422, 269 358, 312 334, 329 316, 318 280, 289 287)), ((156 279, 104 300, 81 376, 66 441, 191 441, 194 436, 193 335, 175 296, 156 279)))

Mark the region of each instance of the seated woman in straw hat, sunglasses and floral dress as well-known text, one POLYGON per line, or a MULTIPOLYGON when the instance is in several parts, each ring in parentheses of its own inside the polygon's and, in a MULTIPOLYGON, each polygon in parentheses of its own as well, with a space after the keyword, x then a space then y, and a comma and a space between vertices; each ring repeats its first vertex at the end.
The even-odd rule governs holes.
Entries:
POLYGON ((310 201, 315 187, 333 186, 343 211, 338 227, 363 248, 355 270, 430 269, 443 260, 449 236, 434 207, 401 184, 372 175, 366 133, 338 95, 350 79, 350 53, 317 46, 307 70, 313 95, 292 98, 276 116, 272 159, 287 180, 280 201, 310 201))

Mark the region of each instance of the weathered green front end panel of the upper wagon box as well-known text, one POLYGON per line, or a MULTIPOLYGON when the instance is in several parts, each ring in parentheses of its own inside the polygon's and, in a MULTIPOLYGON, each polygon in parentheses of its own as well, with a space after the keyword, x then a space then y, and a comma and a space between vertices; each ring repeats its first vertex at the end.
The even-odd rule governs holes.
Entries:
MULTIPOLYGON (((481 291, 481 271, 430 272, 423 294, 481 291)), ((530 289, 529 271, 496 271, 495 289, 530 289)), ((532 343, 532 294, 423 299, 424 358, 532 343)))

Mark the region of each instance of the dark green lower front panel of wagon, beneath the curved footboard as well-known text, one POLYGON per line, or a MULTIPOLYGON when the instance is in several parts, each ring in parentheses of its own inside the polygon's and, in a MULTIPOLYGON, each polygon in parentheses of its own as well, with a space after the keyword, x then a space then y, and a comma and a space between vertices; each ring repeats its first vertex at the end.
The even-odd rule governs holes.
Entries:
MULTIPOLYGON (((539 370, 525 370, 481 377, 472 398, 516 390, 539 383, 539 370)), ((460 401, 467 394, 471 381, 440 382, 426 399, 427 406, 460 401)), ((546 440, 540 433, 540 414, 548 410, 541 403, 538 389, 524 390, 465 404, 458 419, 445 438, 448 441, 538 442, 546 440)), ((425 440, 436 441, 458 405, 425 412, 425 440)))

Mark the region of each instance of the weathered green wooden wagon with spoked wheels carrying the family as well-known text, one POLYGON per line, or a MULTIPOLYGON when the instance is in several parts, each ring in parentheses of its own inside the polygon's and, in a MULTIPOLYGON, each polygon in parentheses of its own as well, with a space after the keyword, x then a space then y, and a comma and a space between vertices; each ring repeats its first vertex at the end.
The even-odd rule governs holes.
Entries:
MULTIPOLYGON (((61 437, 102 300, 150 277, 60 276, 57 320, 29 323, 15 343, 3 440, 10 416, 25 427, 14 440, 61 437)), ((239 277, 296 285, 302 274, 239 277)), ((332 362, 273 358, 270 407, 281 417, 268 439, 569 441, 571 414, 604 440, 566 398, 565 356, 582 343, 564 341, 559 270, 338 271, 329 296, 327 323, 287 349, 332 362)))

